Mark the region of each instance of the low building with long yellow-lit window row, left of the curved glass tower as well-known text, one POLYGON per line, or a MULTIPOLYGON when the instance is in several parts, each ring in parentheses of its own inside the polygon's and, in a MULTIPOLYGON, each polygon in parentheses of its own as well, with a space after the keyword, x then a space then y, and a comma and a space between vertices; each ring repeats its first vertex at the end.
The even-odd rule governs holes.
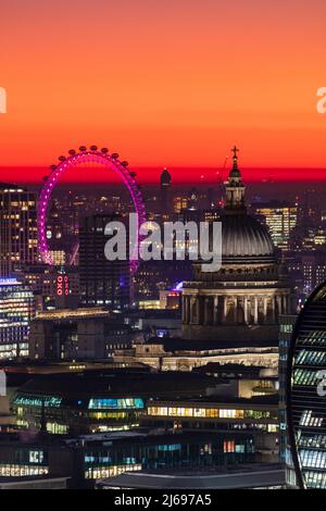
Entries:
POLYGON ((149 403, 141 423, 161 431, 204 431, 218 435, 228 431, 237 433, 234 441, 226 441, 227 452, 242 452, 254 445, 255 461, 275 463, 278 461, 278 396, 260 396, 251 399, 210 396, 200 399, 156 400, 149 403), (248 445, 247 445, 248 441, 248 445))

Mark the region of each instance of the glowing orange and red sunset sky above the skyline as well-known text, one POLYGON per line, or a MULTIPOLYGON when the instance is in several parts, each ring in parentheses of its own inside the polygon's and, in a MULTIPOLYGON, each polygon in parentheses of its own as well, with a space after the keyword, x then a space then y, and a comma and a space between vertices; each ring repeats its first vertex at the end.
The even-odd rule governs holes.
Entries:
POLYGON ((196 180, 235 144, 248 178, 324 178, 325 20, 325 0, 3 1, 0 179, 37 182, 82 144, 140 179, 196 180))

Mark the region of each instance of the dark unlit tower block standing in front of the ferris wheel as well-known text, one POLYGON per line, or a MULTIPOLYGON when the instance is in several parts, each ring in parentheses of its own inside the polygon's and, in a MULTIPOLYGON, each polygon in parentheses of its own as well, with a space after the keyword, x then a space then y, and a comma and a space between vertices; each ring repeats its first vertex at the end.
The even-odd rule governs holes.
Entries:
POLYGON ((86 307, 101 306, 124 309, 129 304, 129 261, 109 261, 104 247, 109 237, 105 225, 121 221, 117 215, 96 214, 83 220, 79 230, 80 302, 86 307))

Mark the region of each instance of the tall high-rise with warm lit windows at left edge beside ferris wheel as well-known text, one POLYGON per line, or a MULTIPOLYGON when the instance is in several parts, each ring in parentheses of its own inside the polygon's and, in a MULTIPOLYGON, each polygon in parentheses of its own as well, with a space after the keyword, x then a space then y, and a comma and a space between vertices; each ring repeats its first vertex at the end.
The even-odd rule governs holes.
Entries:
POLYGON ((37 261, 36 195, 0 184, 0 276, 37 261))

